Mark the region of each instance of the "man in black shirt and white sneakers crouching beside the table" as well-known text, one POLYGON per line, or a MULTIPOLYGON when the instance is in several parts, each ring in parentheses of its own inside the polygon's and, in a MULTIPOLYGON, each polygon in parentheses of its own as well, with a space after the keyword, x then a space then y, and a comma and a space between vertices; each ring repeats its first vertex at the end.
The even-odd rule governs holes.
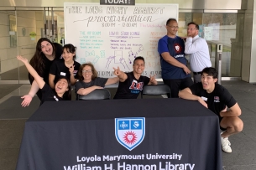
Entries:
POLYGON ((222 150, 232 152, 227 137, 243 130, 243 121, 238 117, 241 115, 241 109, 227 89, 217 84, 217 70, 206 67, 202 70, 201 82, 181 90, 179 96, 186 100, 198 100, 219 117, 223 131, 221 133, 222 150))

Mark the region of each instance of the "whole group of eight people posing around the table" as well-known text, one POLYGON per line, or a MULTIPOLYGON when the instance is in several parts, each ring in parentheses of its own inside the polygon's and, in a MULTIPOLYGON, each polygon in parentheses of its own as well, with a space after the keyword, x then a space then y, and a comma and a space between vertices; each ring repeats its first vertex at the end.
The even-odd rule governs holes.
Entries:
MULTIPOLYGON (((169 97, 198 100, 217 114, 223 131, 222 150, 232 152, 227 137, 243 130, 243 121, 238 117, 241 109, 232 95, 217 84, 217 70, 212 68, 206 40, 198 36, 198 24, 188 23, 185 38, 176 35, 178 28, 176 19, 168 19, 167 34, 158 43, 162 79, 171 90, 169 97), (194 82, 185 54, 190 54, 194 82)), ((93 64, 76 62, 76 48, 72 44, 65 44, 62 49, 45 38, 39 39, 30 64, 22 56, 17 56, 17 59, 24 62, 29 70, 31 83, 29 94, 22 97, 22 106, 29 106, 35 94, 41 104, 46 100, 71 100, 71 85, 75 85, 77 95, 87 95, 105 85, 119 82, 114 99, 137 99, 144 85, 157 85, 154 75, 142 75, 145 66, 143 57, 133 60, 132 72, 125 73, 118 67, 113 68, 116 77, 101 78, 97 76, 93 64)))

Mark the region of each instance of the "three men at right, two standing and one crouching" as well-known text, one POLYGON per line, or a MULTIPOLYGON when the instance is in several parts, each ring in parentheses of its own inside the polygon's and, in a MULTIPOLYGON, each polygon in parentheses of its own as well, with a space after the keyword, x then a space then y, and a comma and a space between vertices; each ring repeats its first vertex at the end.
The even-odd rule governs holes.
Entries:
POLYGON ((212 68, 205 39, 198 36, 199 26, 187 24, 187 37, 176 35, 178 22, 170 18, 166 22, 167 34, 159 39, 162 79, 170 86, 171 97, 197 100, 213 111, 220 121, 222 150, 232 152, 228 137, 243 130, 243 121, 238 117, 241 109, 238 102, 222 85, 217 84, 217 70, 212 68), (190 55, 191 70, 187 67, 185 54, 190 55), (227 109, 228 108, 228 109, 227 109))

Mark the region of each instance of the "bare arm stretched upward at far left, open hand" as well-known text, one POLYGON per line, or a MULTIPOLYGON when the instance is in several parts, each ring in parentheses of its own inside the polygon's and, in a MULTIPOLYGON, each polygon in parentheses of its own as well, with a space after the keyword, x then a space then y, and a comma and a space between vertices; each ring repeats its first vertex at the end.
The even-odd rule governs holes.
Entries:
POLYGON ((32 75, 34 77, 34 80, 39 85, 39 88, 42 89, 44 87, 45 82, 44 82, 44 80, 42 80, 42 78, 39 76, 39 74, 34 70, 34 68, 29 64, 28 59, 25 59, 20 55, 17 56, 17 59, 22 61, 25 64, 30 75, 32 75))

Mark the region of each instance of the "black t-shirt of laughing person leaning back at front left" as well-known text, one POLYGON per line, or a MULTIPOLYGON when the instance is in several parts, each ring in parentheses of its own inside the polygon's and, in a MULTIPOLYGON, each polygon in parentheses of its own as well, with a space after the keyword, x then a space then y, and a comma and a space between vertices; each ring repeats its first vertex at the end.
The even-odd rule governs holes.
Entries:
POLYGON ((64 100, 63 98, 59 97, 55 90, 50 88, 50 85, 44 84, 44 87, 41 89, 42 91, 42 100, 40 105, 44 103, 44 101, 59 101, 64 100))

